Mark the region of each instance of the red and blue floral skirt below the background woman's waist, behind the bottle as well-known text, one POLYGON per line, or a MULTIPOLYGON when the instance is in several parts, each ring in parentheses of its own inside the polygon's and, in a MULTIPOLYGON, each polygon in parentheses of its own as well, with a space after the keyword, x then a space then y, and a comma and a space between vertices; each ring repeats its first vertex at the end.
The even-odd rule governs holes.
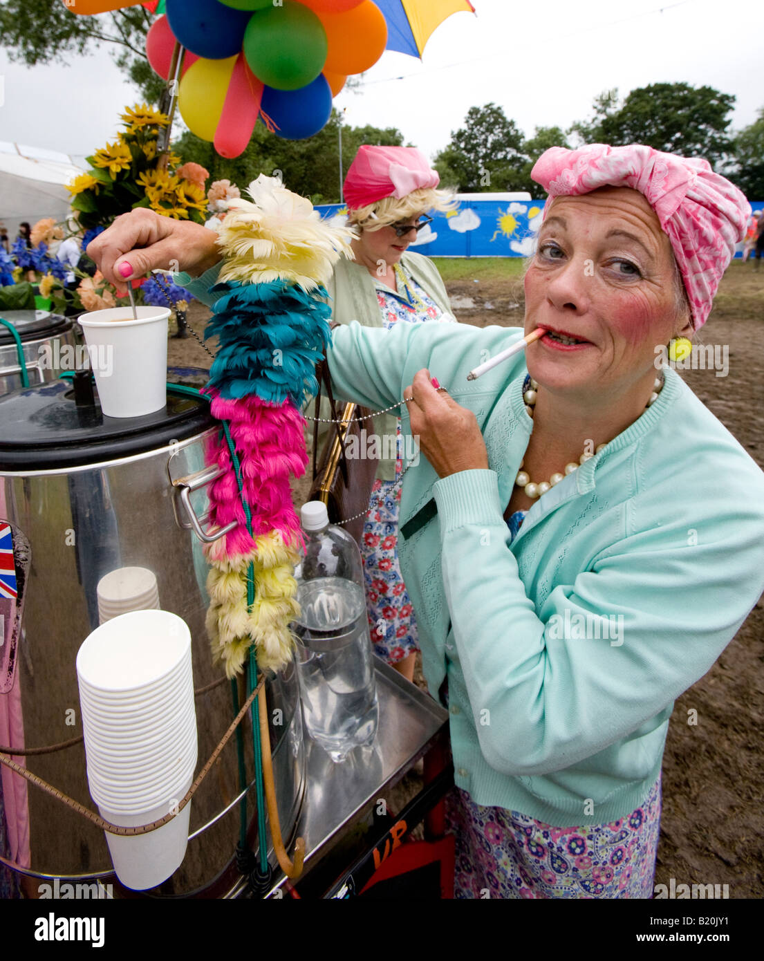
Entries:
POLYGON ((360 551, 374 653, 388 664, 419 650, 416 620, 398 564, 400 507, 400 484, 375 480, 360 551))

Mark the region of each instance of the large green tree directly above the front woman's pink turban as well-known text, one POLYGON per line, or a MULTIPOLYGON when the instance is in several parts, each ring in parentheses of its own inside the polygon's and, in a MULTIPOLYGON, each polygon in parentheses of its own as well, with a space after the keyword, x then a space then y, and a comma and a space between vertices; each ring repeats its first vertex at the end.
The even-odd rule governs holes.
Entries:
POLYGON ((586 143, 645 143, 683 157, 702 157, 718 166, 729 155, 727 133, 735 98, 712 86, 651 84, 631 90, 612 110, 608 91, 595 101, 595 117, 572 130, 586 143), (604 98, 604 99, 603 99, 604 98))

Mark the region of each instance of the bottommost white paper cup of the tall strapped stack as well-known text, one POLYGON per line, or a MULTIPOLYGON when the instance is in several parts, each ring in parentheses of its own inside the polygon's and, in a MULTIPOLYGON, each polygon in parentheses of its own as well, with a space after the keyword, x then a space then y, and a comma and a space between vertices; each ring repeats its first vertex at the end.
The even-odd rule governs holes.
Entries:
MULTIPOLYGON (((175 797, 180 801, 191 786, 191 778, 187 778, 182 791, 175 797)), ((136 825, 151 824, 158 821, 169 812, 169 801, 155 805, 150 810, 136 810, 133 814, 112 811, 98 805, 101 817, 112 825, 135 827, 136 825)), ((191 802, 173 818, 168 824, 148 834, 137 834, 135 837, 119 837, 106 831, 106 840, 111 854, 111 863, 116 876, 127 888, 134 891, 145 891, 156 887, 165 881, 181 866, 188 844, 188 821, 191 814, 191 802)))

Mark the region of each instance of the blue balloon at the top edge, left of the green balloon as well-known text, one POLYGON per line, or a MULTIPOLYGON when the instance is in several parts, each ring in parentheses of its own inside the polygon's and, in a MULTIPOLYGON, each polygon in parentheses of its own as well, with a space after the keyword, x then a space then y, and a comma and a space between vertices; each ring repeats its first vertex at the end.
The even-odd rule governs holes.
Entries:
POLYGON ((224 60, 241 50, 244 30, 253 15, 218 0, 166 0, 167 20, 177 40, 197 57, 224 60))

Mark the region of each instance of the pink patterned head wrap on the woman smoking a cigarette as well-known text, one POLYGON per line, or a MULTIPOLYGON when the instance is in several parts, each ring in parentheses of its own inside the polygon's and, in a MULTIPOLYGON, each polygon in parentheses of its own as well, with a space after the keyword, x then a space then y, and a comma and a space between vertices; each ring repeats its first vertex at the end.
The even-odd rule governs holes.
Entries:
POLYGON ((530 176, 550 197, 577 196, 608 185, 644 194, 671 240, 693 329, 702 327, 751 213, 740 190, 715 174, 707 160, 640 144, 592 143, 579 150, 551 147, 536 160, 530 176))

